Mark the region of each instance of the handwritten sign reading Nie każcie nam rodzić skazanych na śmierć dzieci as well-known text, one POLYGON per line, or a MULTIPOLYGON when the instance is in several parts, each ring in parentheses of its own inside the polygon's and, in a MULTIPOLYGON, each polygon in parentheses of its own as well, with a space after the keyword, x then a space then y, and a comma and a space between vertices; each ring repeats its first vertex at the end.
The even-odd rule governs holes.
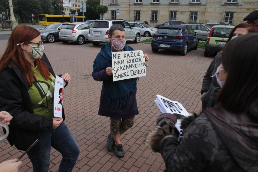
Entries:
POLYGON ((146 76, 142 50, 112 52, 113 81, 146 76))

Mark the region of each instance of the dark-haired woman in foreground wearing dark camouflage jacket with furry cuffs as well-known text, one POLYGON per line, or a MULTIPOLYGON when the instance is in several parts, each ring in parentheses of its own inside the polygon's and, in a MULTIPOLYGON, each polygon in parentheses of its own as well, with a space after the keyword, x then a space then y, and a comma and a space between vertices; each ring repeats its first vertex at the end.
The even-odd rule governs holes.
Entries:
MULTIPOLYGON (((198 115, 177 138, 174 114, 157 118, 147 137, 167 171, 258 171, 258 34, 225 45, 216 73, 222 89, 217 104, 198 115)), ((183 123, 183 121, 182 121, 183 123)))

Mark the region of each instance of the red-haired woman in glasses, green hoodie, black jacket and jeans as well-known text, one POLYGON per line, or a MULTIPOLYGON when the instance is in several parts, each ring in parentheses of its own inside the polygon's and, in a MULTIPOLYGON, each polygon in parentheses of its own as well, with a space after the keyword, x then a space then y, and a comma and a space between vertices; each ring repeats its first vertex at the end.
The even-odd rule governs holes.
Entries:
MULTIPOLYGON (((55 73, 44 54, 40 32, 19 25, 10 35, 0 59, 0 111, 8 111, 8 142, 26 151, 39 139, 28 157, 33 171, 48 171, 51 146, 62 154, 58 171, 72 171, 79 147, 62 118, 54 117, 55 73)), ((70 82, 69 74, 60 75, 70 82)))

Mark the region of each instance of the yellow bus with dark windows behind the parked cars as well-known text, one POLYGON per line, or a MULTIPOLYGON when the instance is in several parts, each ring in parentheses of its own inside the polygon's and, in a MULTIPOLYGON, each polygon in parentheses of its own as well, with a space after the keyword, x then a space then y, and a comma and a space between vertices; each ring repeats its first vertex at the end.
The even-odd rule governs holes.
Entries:
POLYGON ((86 21, 85 16, 82 17, 82 16, 77 16, 77 15, 74 15, 74 16, 64 15, 63 16, 63 15, 39 14, 39 25, 48 26, 51 23, 63 22, 63 19, 65 20, 65 23, 86 21))

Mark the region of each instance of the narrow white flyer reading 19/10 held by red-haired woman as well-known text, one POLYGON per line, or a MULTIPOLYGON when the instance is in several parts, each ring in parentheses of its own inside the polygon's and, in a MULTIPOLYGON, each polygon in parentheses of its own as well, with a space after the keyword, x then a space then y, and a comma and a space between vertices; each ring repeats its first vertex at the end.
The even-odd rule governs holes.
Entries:
POLYGON ((54 91, 54 117, 62 117, 64 85, 65 81, 63 78, 56 76, 54 91))

